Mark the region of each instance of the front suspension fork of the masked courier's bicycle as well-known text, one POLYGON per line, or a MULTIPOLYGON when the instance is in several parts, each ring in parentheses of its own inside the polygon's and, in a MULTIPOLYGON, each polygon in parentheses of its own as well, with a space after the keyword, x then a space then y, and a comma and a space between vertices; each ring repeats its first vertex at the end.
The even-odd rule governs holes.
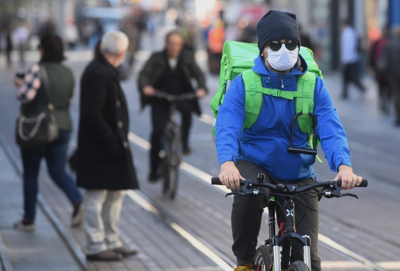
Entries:
POLYGON ((310 239, 309 236, 300 236, 296 233, 295 222, 294 222, 294 203, 290 200, 283 203, 282 206, 286 206, 285 210, 282 210, 283 227, 279 229, 279 234, 275 235, 275 203, 270 201, 268 205, 269 213, 269 236, 273 236, 272 252, 273 252, 273 270, 281 271, 282 269, 288 269, 290 262, 290 252, 292 240, 297 240, 303 245, 303 261, 311 271, 311 255, 310 255, 310 239), (286 231, 287 229, 288 231, 286 231), (282 247, 282 252, 280 248, 282 247))

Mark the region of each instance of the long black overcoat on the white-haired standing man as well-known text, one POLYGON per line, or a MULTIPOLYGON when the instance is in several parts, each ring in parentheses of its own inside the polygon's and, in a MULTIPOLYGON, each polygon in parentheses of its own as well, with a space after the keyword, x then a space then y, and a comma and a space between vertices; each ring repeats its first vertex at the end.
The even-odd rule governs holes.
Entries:
POLYGON ((117 71, 100 54, 88 64, 80 81, 79 187, 138 188, 128 132, 128 109, 117 71))

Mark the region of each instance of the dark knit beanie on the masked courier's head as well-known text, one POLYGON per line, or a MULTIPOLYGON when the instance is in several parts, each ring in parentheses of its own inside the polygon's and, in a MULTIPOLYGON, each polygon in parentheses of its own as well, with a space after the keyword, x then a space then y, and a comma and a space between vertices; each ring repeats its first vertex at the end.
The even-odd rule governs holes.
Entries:
POLYGON ((269 10, 255 26, 258 38, 258 49, 261 52, 265 44, 272 40, 298 38, 296 15, 280 10, 269 10))

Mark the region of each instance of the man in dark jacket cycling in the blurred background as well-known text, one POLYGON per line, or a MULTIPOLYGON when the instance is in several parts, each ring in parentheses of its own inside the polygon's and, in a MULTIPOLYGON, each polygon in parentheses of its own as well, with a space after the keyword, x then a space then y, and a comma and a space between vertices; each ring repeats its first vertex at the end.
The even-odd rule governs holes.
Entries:
MULTIPOLYGON (((161 52, 151 55, 139 74, 139 90, 142 94, 141 103, 151 105, 152 134, 150 151, 149 181, 158 179, 158 164, 160 161, 160 138, 164 126, 168 120, 169 103, 166 100, 156 99, 156 89, 168 94, 182 94, 193 92, 191 79, 195 78, 198 89, 195 91, 197 98, 207 94, 205 78, 197 66, 193 54, 182 50, 183 37, 177 30, 171 31, 165 38, 166 47, 161 52)), ((190 152, 188 135, 191 124, 191 112, 200 115, 200 107, 197 100, 179 101, 177 109, 182 114, 182 145, 183 155, 190 152)))

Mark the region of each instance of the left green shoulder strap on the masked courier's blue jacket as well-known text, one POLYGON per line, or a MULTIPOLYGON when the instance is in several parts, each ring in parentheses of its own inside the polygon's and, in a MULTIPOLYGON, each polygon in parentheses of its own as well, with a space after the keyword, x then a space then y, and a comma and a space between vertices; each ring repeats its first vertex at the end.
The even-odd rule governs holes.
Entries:
POLYGON ((241 73, 244 84, 245 100, 244 107, 246 118, 243 123, 243 130, 250 128, 258 118, 262 107, 262 92, 257 91, 262 88, 261 76, 256 74, 252 69, 245 70, 241 73))

